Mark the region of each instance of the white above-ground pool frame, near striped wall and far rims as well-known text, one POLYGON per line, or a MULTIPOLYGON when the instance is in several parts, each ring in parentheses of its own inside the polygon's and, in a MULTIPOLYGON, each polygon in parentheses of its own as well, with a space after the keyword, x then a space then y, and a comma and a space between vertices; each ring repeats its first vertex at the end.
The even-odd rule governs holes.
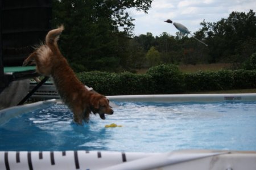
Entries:
MULTIPOLYGON (((108 96, 126 102, 256 101, 256 94, 108 96)), ((39 101, 0 111, 0 125, 19 114, 47 108, 39 101)), ((255 111, 256 112, 256 111, 255 111)), ((18 142, 18 139, 17 139, 18 142)), ((0 151, 0 169, 255 169, 256 151, 183 150, 164 153, 111 151, 0 151)))

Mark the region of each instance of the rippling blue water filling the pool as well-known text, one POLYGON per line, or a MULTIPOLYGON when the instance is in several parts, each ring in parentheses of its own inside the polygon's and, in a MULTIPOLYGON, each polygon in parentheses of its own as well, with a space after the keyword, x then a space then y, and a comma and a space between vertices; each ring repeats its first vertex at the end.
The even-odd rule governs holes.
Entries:
POLYGON ((115 104, 106 120, 92 115, 83 126, 65 105, 23 114, 0 126, 0 150, 256 150, 255 101, 115 104), (105 128, 112 123, 122 127, 105 128))

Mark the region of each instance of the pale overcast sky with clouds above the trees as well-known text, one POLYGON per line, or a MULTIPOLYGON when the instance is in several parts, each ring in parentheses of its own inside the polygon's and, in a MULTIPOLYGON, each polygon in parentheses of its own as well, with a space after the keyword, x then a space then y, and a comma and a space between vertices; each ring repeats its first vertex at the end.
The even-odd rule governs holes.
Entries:
POLYGON ((153 0, 148 14, 143 11, 129 10, 135 21, 134 35, 151 32, 160 36, 163 32, 175 36, 177 29, 173 24, 163 22, 171 19, 196 32, 201 28, 200 22, 217 22, 228 18, 232 11, 256 11, 256 0, 153 0))

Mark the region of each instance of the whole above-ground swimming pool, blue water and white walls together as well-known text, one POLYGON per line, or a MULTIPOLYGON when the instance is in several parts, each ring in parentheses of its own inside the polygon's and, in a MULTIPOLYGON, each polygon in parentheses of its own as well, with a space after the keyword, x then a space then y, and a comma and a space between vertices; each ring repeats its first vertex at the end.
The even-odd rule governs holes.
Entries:
POLYGON ((84 126, 56 100, 1 110, 0 169, 255 169, 256 94, 108 97, 84 126))

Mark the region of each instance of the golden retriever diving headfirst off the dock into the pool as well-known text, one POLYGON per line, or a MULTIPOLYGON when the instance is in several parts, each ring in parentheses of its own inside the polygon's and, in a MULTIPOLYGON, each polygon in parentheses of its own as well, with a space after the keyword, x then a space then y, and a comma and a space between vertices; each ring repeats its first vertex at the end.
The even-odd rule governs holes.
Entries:
POLYGON ((57 41, 64 27, 52 29, 46 35, 45 44, 40 45, 28 56, 23 66, 29 63, 36 64, 36 71, 44 76, 52 76, 53 82, 61 99, 73 112, 75 122, 82 124, 88 121, 89 114, 100 114, 105 119, 105 114, 113 114, 109 100, 100 94, 88 91, 84 84, 77 79, 75 73, 68 65, 67 59, 61 54, 57 41))

